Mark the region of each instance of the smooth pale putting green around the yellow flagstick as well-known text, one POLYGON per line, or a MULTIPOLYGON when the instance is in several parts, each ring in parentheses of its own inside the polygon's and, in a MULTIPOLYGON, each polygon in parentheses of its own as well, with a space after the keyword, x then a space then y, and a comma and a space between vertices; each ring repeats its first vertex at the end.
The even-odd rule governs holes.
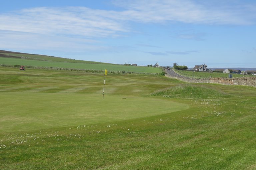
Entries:
POLYGON ((0 92, 0 132, 27 131, 135 119, 188 109, 154 97, 0 92), (125 99, 123 99, 125 98, 125 99))

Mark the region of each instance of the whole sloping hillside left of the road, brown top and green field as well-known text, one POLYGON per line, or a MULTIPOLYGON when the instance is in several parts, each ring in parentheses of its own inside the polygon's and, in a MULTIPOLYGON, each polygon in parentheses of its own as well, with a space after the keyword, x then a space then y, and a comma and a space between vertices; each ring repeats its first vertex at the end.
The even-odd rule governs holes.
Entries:
POLYGON ((47 55, 27 54, 0 50, 0 65, 15 66, 24 65, 26 68, 48 67, 48 68, 67 68, 83 70, 101 70, 114 72, 133 72, 133 73, 161 73, 162 69, 154 67, 131 66, 121 64, 102 63, 94 61, 74 60, 69 58, 53 57, 47 55))

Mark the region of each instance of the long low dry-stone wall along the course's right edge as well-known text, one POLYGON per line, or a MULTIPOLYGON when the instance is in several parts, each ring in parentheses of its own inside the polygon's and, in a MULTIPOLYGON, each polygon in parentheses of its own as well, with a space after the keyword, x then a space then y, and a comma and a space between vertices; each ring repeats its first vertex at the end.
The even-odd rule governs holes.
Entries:
MULTIPOLYGON (((170 76, 168 76, 170 77, 170 76)), ((253 86, 256 87, 256 76, 250 77, 237 77, 237 78, 205 78, 205 79, 192 79, 192 78, 177 78, 181 81, 186 81, 190 83, 216 83, 224 85, 244 85, 244 86, 253 86)))

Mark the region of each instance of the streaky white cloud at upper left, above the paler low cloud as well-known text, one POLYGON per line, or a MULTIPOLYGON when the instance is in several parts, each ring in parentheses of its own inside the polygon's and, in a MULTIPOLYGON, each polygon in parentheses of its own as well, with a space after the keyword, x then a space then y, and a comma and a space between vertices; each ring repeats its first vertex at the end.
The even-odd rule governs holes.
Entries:
POLYGON ((104 13, 84 7, 30 8, 0 15, 0 29, 86 37, 105 37, 128 31, 117 21, 106 18, 104 13))

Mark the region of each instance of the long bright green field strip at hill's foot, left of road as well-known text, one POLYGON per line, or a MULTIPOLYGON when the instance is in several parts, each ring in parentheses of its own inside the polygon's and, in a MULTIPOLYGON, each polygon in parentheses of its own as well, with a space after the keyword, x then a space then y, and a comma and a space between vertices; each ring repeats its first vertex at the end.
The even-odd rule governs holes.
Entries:
POLYGON ((108 71, 123 71, 136 72, 136 73, 161 73, 160 68, 142 67, 142 66, 125 66, 117 64, 95 64, 95 63, 73 63, 73 62, 52 62, 52 61, 38 61, 17 58, 0 57, 0 64, 7 65, 25 65, 37 67, 59 67, 59 68, 77 68, 77 69, 90 69, 90 70, 105 70, 108 71))

